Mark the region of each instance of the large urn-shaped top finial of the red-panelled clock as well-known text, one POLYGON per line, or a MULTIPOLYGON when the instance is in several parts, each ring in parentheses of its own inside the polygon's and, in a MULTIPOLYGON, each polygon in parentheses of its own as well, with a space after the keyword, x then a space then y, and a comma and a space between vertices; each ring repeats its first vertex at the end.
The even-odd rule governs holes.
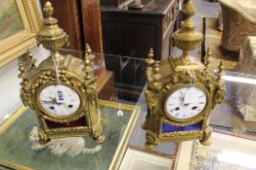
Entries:
POLYGON ((58 25, 58 19, 52 17, 54 8, 52 4, 47 1, 44 6, 44 14, 46 18, 43 20, 43 29, 39 31, 36 36, 36 40, 43 47, 51 51, 52 55, 57 60, 62 60, 63 56, 59 54, 58 50, 61 49, 64 44, 68 45, 68 35, 58 25))

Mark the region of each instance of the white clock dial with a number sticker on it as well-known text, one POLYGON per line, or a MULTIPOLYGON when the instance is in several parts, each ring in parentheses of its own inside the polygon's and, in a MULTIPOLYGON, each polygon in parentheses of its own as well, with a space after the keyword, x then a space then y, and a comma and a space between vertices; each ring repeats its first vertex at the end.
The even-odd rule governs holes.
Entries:
POLYGON ((39 104, 51 115, 64 117, 74 114, 80 107, 78 93, 66 85, 48 85, 39 94, 39 104))

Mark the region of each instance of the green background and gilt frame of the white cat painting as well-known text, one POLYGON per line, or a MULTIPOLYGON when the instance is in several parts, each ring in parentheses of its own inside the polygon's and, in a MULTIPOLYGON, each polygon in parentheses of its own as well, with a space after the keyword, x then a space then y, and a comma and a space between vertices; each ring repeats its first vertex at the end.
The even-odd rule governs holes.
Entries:
MULTIPOLYGON (((99 153, 81 153, 75 156, 56 156, 48 149, 32 151, 28 135, 38 122, 34 111, 27 109, 0 134, 0 164, 15 169, 25 167, 41 170, 117 169, 126 152, 132 129, 140 112, 139 107, 121 106, 124 116, 117 117, 118 104, 101 101, 100 109, 104 117, 106 136, 102 150, 99 153)), ((84 140, 86 148, 99 145, 91 137, 84 137, 84 140)))

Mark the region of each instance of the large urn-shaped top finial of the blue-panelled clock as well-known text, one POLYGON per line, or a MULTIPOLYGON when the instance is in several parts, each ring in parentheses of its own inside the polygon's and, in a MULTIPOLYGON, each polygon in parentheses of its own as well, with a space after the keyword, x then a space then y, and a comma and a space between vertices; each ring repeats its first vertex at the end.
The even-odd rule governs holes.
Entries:
POLYGON ((198 47, 202 34, 194 31, 195 23, 192 21, 192 16, 195 14, 195 9, 191 0, 185 5, 184 14, 186 19, 182 22, 181 29, 173 34, 173 38, 177 48, 183 51, 182 57, 188 60, 189 51, 198 47))

